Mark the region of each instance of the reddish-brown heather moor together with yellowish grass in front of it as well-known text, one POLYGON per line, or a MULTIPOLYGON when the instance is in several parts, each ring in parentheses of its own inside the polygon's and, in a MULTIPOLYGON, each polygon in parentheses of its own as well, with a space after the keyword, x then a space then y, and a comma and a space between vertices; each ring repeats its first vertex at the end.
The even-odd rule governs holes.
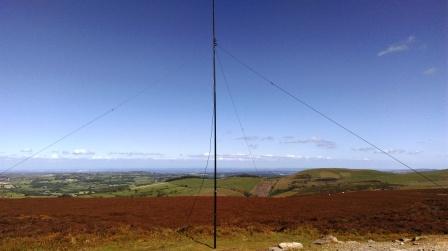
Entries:
MULTIPOLYGON (((183 228, 193 199, 1 199, 0 250, 210 250, 211 197, 198 197, 192 227, 183 228)), ((321 250, 312 241, 322 233, 387 245, 448 233, 448 195, 440 190, 220 197, 218 213, 220 250, 265 250, 283 241, 321 250)))

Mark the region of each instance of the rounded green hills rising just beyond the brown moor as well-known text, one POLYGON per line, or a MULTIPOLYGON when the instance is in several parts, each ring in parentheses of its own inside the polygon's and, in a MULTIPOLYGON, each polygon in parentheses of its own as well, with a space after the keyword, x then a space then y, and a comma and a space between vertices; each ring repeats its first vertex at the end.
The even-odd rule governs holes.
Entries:
MULTIPOLYGON (((425 171, 425 176, 448 187, 448 170, 425 171)), ((211 196, 213 180, 187 176, 151 185, 135 187, 140 196, 211 196), (199 188, 202 189, 199 192, 199 188)), ((288 176, 228 176, 218 180, 220 196, 284 197, 314 193, 338 193, 359 190, 434 188, 416 173, 393 173, 368 169, 319 168, 288 176)))

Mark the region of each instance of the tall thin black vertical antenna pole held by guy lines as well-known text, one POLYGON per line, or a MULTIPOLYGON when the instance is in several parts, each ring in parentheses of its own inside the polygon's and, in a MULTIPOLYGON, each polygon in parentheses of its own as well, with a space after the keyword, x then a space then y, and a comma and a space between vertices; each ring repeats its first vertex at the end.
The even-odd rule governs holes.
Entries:
POLYGON ((216 249, 216 206, 217 206, 217 184, 216 184, 216 36, 215 36, 215 0, 212 0, 212 49, 213 49, 213 119, 214 119, 214 187, 213 187, 213 248, 216 249))

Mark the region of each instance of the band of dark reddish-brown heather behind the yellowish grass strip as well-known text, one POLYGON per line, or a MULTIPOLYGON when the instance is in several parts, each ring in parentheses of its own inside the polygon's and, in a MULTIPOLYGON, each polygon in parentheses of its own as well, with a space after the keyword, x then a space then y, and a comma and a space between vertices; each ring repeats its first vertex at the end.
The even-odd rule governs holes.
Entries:
MULTIPOLYGON (((448 233, 448 200, 437 190, 371 191, 289 198, 220 197, 221 226, 283 231, 448 233)), ((114 233, 185 226, 193 197, 1 199, 0 235, 114 233)), ((210 225, 212 198, 199 197, 191 225, 210 225)))

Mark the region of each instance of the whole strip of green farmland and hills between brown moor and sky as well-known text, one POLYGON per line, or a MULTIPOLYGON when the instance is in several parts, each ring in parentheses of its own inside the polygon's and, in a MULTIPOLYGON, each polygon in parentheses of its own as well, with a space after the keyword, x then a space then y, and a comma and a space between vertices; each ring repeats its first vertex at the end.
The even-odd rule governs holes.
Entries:
MULTIPOLYGON (((448 171, 423 174, 448 186, 448 171)), ((0 197, 168 197, 212 195, 213 180, 199 174, 104 172, 11 174, 1 178, 0 197)), ((219 196, 288 197, 346 191, 427 189, 434 184, 416 173, 322 168, 290 175, 223 174, 219 196)))

